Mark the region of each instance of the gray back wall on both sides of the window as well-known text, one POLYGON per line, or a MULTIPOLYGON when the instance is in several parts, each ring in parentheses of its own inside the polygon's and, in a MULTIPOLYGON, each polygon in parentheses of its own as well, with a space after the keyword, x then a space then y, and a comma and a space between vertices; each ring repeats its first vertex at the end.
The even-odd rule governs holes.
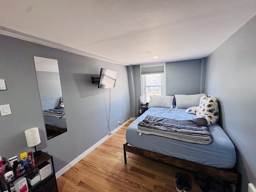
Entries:
MULTIPOLYGON (((140 106, 140 65, 134 67, 135 116, 140 106)), ((166 95, 199 94, 204 92, 206 58, 167 62, 166 95)))

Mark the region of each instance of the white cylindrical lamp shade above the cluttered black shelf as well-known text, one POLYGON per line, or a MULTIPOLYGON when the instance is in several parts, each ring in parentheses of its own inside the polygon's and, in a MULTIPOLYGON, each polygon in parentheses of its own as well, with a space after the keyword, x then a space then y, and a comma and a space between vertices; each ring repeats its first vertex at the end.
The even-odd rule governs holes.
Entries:
POLYGON ((33 147, 40 144, 41 140, 39 136, 38 127, 29 128, 24 132, 25 132, 28 147, 33 147))

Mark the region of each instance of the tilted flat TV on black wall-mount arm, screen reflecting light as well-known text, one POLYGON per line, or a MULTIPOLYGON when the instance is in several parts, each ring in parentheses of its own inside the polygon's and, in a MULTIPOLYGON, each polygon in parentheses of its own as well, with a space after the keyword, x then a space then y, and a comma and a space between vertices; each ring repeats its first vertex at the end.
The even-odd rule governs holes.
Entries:
POLYGON ((116 71, 101 68, 100 69, 100 82, 98 88, 114 88, 116 85, 116 71))

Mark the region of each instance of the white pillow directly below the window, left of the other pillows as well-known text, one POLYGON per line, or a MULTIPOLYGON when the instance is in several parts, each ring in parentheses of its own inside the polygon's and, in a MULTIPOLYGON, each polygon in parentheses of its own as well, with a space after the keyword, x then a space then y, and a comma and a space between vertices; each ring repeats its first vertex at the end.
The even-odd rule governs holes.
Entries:
POLYGON ((173 108, 172 100, 174 96, 154 96, 150 95, 150 100, 148 108, 150 107, 163 107, 163 108, 173 108))

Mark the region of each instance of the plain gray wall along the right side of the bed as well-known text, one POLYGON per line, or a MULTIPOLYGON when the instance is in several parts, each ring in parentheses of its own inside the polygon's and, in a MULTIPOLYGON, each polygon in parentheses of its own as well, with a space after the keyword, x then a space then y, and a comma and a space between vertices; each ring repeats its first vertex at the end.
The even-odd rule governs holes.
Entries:
POLYGON ((218 98, 221 124, 237 152, 242 191, 256 186, 256 16, 207 57, 206 92, 218 98))

